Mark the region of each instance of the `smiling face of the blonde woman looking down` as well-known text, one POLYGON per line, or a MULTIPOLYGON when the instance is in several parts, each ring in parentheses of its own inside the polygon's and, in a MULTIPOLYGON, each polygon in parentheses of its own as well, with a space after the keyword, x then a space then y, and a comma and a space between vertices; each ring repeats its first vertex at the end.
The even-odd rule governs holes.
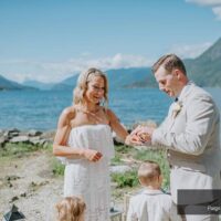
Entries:
POLYGON ((99 104, 105 94, 105 81, 102 76, 92 75, 88 77, 85 99, 92 104, 99 104))

